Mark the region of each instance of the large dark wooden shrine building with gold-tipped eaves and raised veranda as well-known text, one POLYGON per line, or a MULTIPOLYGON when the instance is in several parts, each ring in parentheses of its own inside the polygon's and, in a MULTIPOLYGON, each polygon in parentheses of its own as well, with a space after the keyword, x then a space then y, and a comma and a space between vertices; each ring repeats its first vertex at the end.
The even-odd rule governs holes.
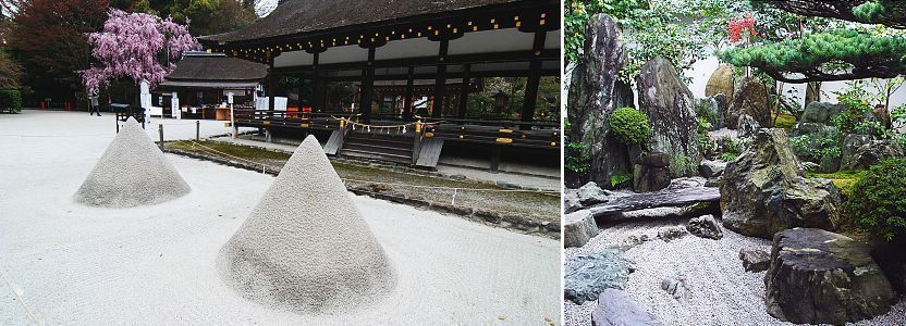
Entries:
POLYGON ((488 149, 489 167, 497 170, 501 153, 559 158, 559 118, 535 116, 550 110, 537 101, 541 78, 560 76, 560 1, 552 0, 284 0, 244 29, 200 41, 208 50, 268 65, 268 96, 280 76, 313 85, 310 112, 273 110, 270 96, 270 110, 237 113, 238 126, 326 133, 328 154, 426 167, 438 163, 445 147, 488 149), (525 78, 517 116, 468 114, 475 87, 461 86, 482 77, 525 78), (426 87, 425 79, 432 85, 426 87), (329 109, 325 85, 332 82, 357 84, 356 103, 329 109), (402 114, 377 114, 383 105, 378 90, 402 92, 402 114), (426 90, 432 106, 419 116, 414 98, 426 90))

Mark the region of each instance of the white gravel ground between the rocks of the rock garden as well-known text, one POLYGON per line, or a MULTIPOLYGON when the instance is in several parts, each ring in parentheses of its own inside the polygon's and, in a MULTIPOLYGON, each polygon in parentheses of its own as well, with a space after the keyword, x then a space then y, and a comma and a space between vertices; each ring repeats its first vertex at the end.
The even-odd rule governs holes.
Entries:
MULTIPOLYGON (((566 249, 568 260, 599 248, 620 246, 630 235, 647 234, 654 239, 633 247, 626 254, 635 262, 636 272, 629 274, 628 296, 645 311, 664 325, 793 325, 768 315, 764 306, 764 274, 748 273, 739 261, 739 249, 770 252, 771 241, 745 237, 724 228, 721 240, 691 235, 664 242, 657 239, 658 229, 685 225, 686 220, 628 221, 601 229, 585 247, 566 249), (676 302, 661 289, 664 278, 686 279, 691 291, 688 305, 676 302)), ((564 300, 565 325, 591 325, 591 311, 597 301, 577 305, 564 300)), ((906 300, 891 313, 856 325, 906 325, 906 300)))

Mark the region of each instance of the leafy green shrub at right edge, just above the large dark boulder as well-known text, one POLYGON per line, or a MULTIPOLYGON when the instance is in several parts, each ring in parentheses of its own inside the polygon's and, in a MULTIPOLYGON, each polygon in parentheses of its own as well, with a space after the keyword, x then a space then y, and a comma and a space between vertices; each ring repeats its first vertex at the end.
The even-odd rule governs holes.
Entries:
POLYGON ((906 235, 906 159, 882 161, 860 178, 843 204, 846 216, 887 241, 906 235))

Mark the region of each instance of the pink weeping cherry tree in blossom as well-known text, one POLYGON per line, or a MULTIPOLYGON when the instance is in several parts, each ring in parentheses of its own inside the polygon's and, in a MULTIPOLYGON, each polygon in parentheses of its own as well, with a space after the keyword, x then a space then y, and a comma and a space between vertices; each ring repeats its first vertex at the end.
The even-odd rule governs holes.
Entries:
POLYGON ((169 17, 118 9, 111 9, 108 15, 102 30, 88 34, 91 57, 97 62, 82 72, 82 79, 90 93, 120 78, 136 84, 146 80, 155 87, 175 68, 183 52, 201 49, 189 35, 188 23, 180 25, 169 17))

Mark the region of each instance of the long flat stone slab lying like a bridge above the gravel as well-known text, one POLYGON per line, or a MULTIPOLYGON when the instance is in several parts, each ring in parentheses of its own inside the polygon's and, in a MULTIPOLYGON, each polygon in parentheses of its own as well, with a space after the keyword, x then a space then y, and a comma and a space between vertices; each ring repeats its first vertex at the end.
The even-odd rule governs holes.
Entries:
POLYGON ((602 204, 588 209, 595 217, 603 217, 623 212, 656 208, 687 206, 696 203, 719 203, 721 191, 715 187, 696 187, 685 189, 666 189, 617 197, 602 204))

